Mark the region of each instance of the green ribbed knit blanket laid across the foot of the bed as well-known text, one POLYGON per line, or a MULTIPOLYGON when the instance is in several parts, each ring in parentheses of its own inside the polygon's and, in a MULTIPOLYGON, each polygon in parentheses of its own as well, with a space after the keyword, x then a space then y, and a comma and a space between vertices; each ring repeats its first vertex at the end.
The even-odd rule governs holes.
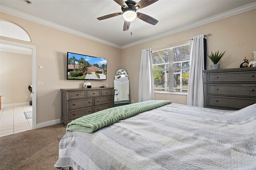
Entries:
POLYGON ((142 113, 149 111, 163 105, 172 103, 171 101, 164 100, 152 100, 144 101, 140 103, 134 103, 131 105, 124 105, 119 107, 113 107, 90 115, 80 117, 70 123, 68 123, 66 132, 73 130, 92 133, 100 128, 111 125, 119 120, 126 119, 142 113))

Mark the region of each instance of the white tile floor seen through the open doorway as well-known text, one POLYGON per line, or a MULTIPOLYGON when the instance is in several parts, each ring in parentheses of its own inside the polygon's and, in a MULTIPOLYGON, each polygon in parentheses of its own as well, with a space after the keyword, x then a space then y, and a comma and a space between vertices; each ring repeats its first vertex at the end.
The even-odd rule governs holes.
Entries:
POLYGON ((32 119, 26 119, 24 112, 32 106, 2 107, 0 110, 0 137, 32 129, 32 119))

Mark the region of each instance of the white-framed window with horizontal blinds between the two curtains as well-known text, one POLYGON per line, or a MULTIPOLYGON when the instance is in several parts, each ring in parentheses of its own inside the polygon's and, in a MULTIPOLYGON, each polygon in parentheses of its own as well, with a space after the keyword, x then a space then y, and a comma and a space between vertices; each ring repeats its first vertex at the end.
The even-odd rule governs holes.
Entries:
POLYGON ((188 93, 189 44, 152 51, 155 91, 188 93))

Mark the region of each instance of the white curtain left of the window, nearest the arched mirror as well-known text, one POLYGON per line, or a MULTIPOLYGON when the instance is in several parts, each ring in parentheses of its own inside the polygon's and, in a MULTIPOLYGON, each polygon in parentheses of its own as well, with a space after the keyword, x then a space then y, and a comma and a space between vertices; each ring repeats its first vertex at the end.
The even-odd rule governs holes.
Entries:
POLYGON ((138 102, 154 100, 154 76, 151 49, 142 49, 140 59, 140 78, 138 102))

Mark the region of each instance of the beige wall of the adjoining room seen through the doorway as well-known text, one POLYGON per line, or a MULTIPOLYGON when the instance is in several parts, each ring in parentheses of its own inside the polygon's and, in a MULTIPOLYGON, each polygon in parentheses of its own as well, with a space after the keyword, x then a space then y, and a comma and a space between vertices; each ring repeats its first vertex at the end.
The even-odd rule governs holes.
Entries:
POLYGON ((32 84, 32 56, 0 51, 0 79, 2 105, 29 102, 28 85, 32 84))

